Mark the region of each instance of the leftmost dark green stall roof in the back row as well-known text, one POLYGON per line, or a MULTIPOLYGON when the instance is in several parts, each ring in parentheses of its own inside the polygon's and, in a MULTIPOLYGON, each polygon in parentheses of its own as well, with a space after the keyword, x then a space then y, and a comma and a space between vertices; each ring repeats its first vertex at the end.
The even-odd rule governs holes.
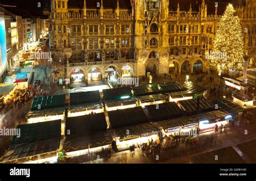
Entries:
POLYGON ((41 109, 65 107, 65 95, 51 95, 45 97, 36 97, 33 100, 31 110, 38 110, 38 105, 41 109))

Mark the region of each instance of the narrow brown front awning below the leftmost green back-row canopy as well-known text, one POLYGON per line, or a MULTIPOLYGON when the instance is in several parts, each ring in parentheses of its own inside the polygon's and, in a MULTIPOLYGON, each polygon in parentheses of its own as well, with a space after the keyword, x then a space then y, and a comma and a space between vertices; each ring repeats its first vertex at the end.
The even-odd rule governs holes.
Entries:
POLYGON ((55 116, 62 115, 65 112, 65 107, 51 108, 51 109, 39 109, 39 110, 30 110, 28 114, 25 115, 26 119, 35 118, 35 117, 46 117, 46 116, 55 116))

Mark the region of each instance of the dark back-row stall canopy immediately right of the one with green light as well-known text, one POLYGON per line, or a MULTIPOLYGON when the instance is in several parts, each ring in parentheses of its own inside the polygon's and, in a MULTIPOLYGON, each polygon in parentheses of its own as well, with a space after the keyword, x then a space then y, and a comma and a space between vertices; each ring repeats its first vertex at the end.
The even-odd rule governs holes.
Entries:
POLYGON ((147 84, 143 86, 133 87, 132 92, 134 96, 159 94, 160 90, 156 84, 147 84))

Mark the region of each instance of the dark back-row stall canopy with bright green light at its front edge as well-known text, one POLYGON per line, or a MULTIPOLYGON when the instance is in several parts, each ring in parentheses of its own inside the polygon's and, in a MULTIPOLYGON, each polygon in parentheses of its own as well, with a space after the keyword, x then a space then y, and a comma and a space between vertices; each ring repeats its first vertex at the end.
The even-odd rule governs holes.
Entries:
POLYGON ((132 98, 132 92, 129 87, 104 89, 103 97, 104 100, 127 99, 132 98))

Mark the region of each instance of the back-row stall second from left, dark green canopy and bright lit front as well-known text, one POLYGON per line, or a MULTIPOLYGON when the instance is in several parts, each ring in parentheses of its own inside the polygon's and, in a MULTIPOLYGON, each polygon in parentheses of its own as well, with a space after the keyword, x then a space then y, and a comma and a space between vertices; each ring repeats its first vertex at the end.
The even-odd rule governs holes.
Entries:
POLYGON ((99 91, 88 91, 70 94, 68 117, 82 116, 90 113, 103 113, 99 91))

